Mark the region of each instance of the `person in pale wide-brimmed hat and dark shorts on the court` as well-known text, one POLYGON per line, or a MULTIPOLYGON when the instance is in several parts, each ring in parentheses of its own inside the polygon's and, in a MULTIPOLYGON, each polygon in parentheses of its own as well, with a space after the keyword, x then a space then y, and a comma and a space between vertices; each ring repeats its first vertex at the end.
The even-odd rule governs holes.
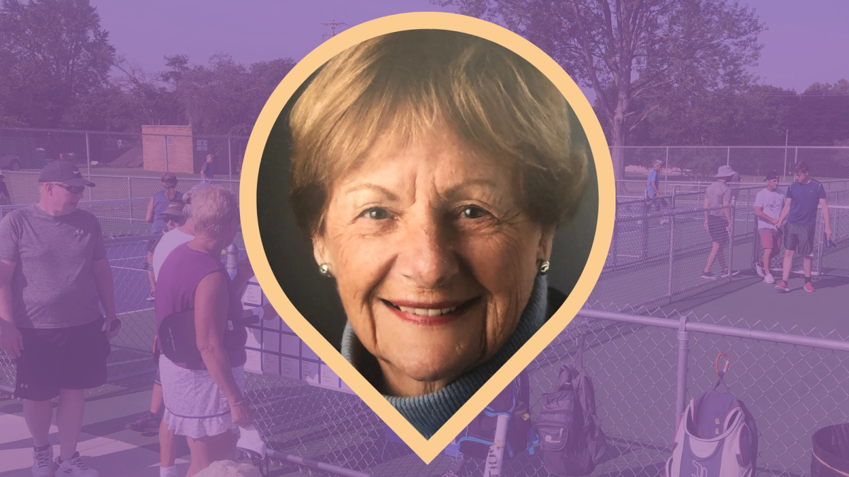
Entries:
POLYGON ((728 245, 728 233, 731 230, 731 188, 728 181, 734 176, 731 166, 720 166, 717 180, 705 189, 705 230, 711 234, 711 252, 707 255, 707 264, 701 278, 716 280, 717 278, 734 277, 739 271, 731 270, 725 261, 725 246, 728 245), (713 261, 719 261, 719 277, 711 272, 713 261))

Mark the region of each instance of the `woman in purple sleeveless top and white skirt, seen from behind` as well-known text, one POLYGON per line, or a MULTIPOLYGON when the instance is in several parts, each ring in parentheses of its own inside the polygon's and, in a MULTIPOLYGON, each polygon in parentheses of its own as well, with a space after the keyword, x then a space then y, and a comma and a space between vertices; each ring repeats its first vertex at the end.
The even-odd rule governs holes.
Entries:
MULTIPOLYGON (((201 359, 172 362, 160 356, 166 412, 162 426, 185 435, 192 463, 188 476, 216 460, 236 457, 238 427, 251 424, 245 401, 245 341, 240 318, 273 317, 273 309, 243 310, 238 291, 221 262, 221 250, 239 230, 235 195, 205 188, 192 196, 194 239, 174 249, 162 264, 155 301, 156 326, 180 311, 194 310, 201 359)), ((174 466, 160 474, 176 476, 174 466)))

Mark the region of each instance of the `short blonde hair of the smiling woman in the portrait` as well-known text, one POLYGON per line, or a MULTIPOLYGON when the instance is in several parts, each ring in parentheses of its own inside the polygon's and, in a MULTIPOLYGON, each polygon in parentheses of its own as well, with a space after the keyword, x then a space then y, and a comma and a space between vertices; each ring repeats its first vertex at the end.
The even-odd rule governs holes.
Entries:
POLYGON ((314 236, 333 183, 378 138, 401 147, 444 125, 516 171, 524 209, 546 226, 575 215, 588 151, 565 98, 542 72, 496 43, 441 30, 398 31, 323 66, 290 115, 292 205, 314 236))

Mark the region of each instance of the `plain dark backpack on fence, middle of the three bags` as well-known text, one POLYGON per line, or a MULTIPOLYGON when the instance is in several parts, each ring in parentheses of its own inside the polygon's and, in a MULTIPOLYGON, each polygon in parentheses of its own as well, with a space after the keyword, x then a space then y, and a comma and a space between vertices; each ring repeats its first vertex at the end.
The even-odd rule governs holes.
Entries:
POLYGON ((560 368, 554 391, 543 394, 537 418, 543 465, 555 475, 591 474, 607 451, 593 379, 583 367, 583 347, 582 336, 575 361, 560 368))

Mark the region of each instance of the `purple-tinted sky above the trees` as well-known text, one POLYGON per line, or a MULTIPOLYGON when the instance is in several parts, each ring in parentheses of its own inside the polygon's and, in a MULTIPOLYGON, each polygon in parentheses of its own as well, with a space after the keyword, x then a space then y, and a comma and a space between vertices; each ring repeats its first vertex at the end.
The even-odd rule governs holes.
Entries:
MULTIPOLYGON (((237 61, 301 59, 323 42, 332 20, 357 25, 389 14, 452 11, 429 0, 91 0, 117 53, 147 71, 162 57, 183 53, 205 64, 214 53, 237 61)), ((849 2, 751 0, 768 30, 759 65, 761 81, 801 93, 814 81, 849 79, 849 2), (803 6, 802 6, 803 5, 803 6)), ((342 28, 345 28, 343 26, 342 28)), ((586 91, 586 90, 585 90, 586 91)), ((592 96, 592 95, 591 95, 592 96)), ((591 98, 592 100, 592 98, 591 98)))

